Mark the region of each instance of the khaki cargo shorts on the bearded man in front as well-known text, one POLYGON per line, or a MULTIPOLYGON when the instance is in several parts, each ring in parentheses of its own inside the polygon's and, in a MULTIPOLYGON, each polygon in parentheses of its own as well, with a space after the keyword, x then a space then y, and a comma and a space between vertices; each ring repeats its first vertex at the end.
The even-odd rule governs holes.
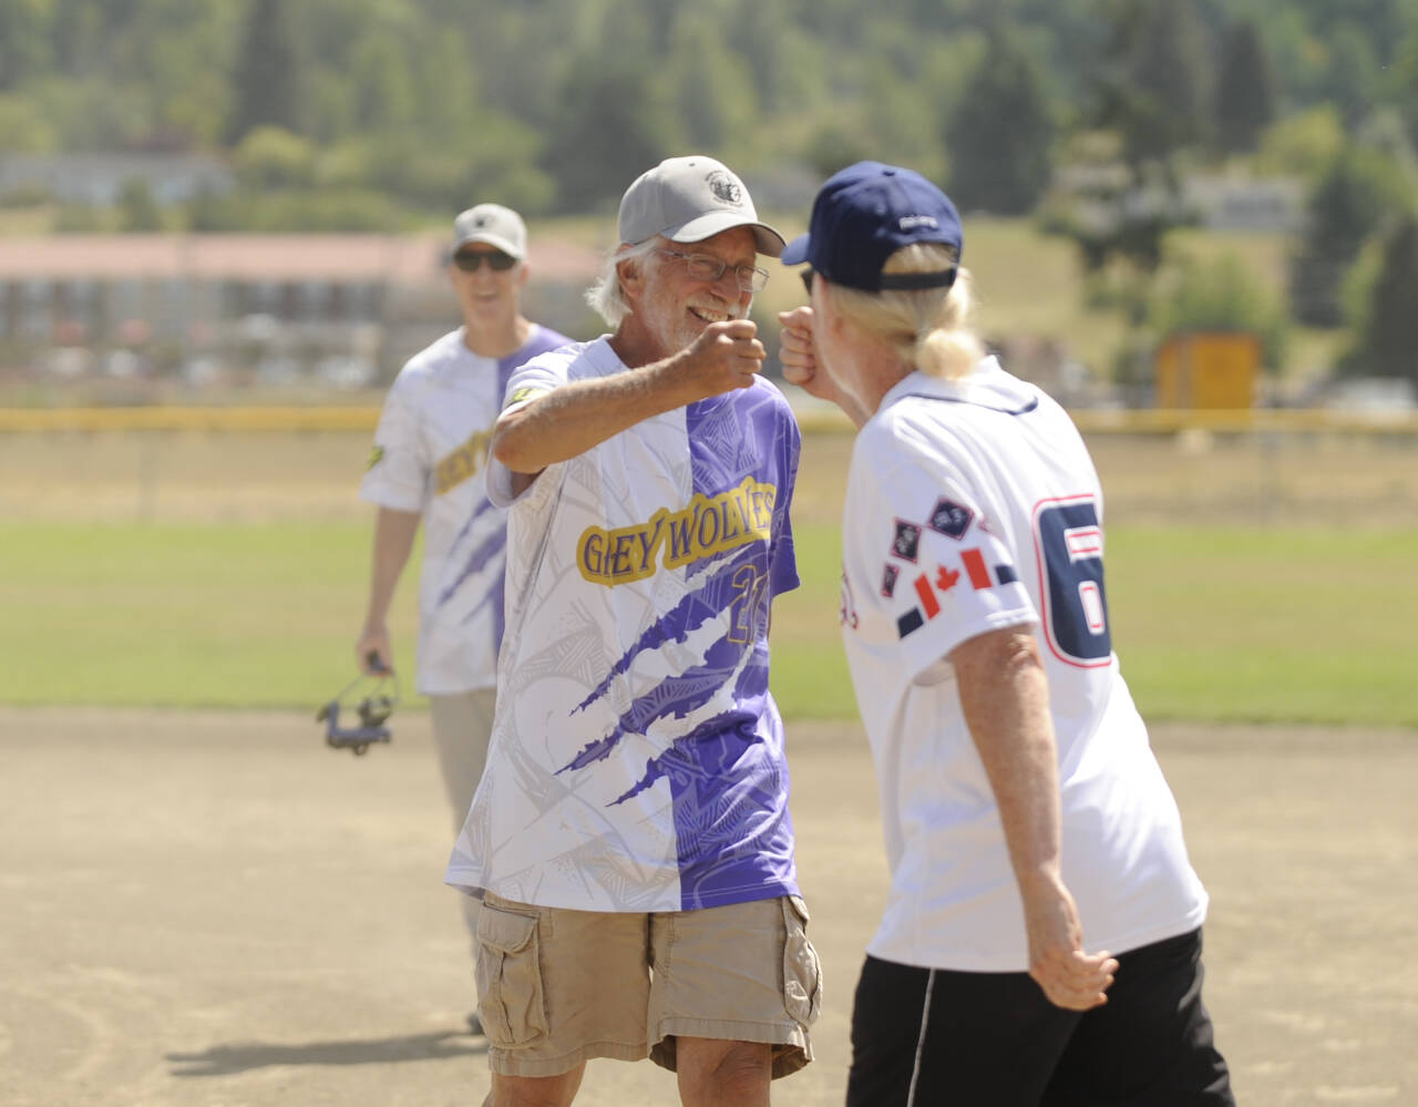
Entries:
POLYGON ((675 1036, 763 1042, 773 1076, 813 1059, 822 969, 795 896, 654 914, 484 897, 478 1018, 492 1072, 557 1076, 591 1057, 675 1069, 675 1036))

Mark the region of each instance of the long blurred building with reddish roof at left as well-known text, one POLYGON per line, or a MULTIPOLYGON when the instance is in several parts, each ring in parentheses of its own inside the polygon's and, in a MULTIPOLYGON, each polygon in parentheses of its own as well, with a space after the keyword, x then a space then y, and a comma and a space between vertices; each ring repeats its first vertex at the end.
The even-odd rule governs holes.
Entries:
MULTIPOLYGON (((389 379, 457 324, 445 247, 379 234, 0 238, 0 373, 72 370, 128 349, 199 380, 213 366, 333 385, 389 379), (52 349, 96 358, 55 360, 52 349)), ((598 261, 588 247, 533 240, 529 314, 584 329, 581 290, 598 261)))

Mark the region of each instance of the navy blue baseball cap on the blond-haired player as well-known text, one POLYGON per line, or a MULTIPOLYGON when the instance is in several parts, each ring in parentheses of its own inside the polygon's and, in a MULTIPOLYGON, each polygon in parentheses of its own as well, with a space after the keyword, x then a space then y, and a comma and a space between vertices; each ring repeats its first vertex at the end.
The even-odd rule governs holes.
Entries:
POLYGON ((949 288, 956 265, 940 272, 882 272, 903 246, 943 243, 964 236, 950 197, 920 173, 881 162, 858 162, 827 179, 813 200, 807 234, 787 244, 784 265, 807 261, 832 284, 879 292, 883 288, 949 288))

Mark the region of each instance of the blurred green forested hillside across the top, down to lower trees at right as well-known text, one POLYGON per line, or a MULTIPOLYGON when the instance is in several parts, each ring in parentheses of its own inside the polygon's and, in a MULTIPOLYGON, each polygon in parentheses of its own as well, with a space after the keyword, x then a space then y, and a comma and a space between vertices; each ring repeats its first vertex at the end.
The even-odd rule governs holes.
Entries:
POLYGON ((604 213, 688 150, 795 210, 869 156, 1072 238, 1095 305, 1258 331, 1272 368, 1295 321, 1418 379, 1415 148, 1418 0, 0 0, 0 167, 233 173, 166 206, 143 182, 104 210, 0 194, 43 230, 398 231, 474 197, 604 213), (1202 177, 1297 190, 1282 302, 1231 263, 1176 270, 1157 302, 1202 177))

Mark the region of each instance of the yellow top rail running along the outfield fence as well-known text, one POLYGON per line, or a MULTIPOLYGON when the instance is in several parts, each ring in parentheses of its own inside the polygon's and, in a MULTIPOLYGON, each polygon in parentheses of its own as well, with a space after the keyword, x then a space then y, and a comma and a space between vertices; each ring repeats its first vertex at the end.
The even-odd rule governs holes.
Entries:
MULTIPOLYGON (((1418 412, 1343 412, 1332 409, 1258 407, 1205 409, 1079 409, 1071 413, 1085 434, 1173 434, 1184 430, 1214 433, 1347 431, 1358 434, 1418 434, 1418 412)), ((0 433, 125 431, 125 430, 373 430, 379 407, 0 407, 0 433)), ((835 409, 798 413, 807 431, 847 430, 835 409)))

